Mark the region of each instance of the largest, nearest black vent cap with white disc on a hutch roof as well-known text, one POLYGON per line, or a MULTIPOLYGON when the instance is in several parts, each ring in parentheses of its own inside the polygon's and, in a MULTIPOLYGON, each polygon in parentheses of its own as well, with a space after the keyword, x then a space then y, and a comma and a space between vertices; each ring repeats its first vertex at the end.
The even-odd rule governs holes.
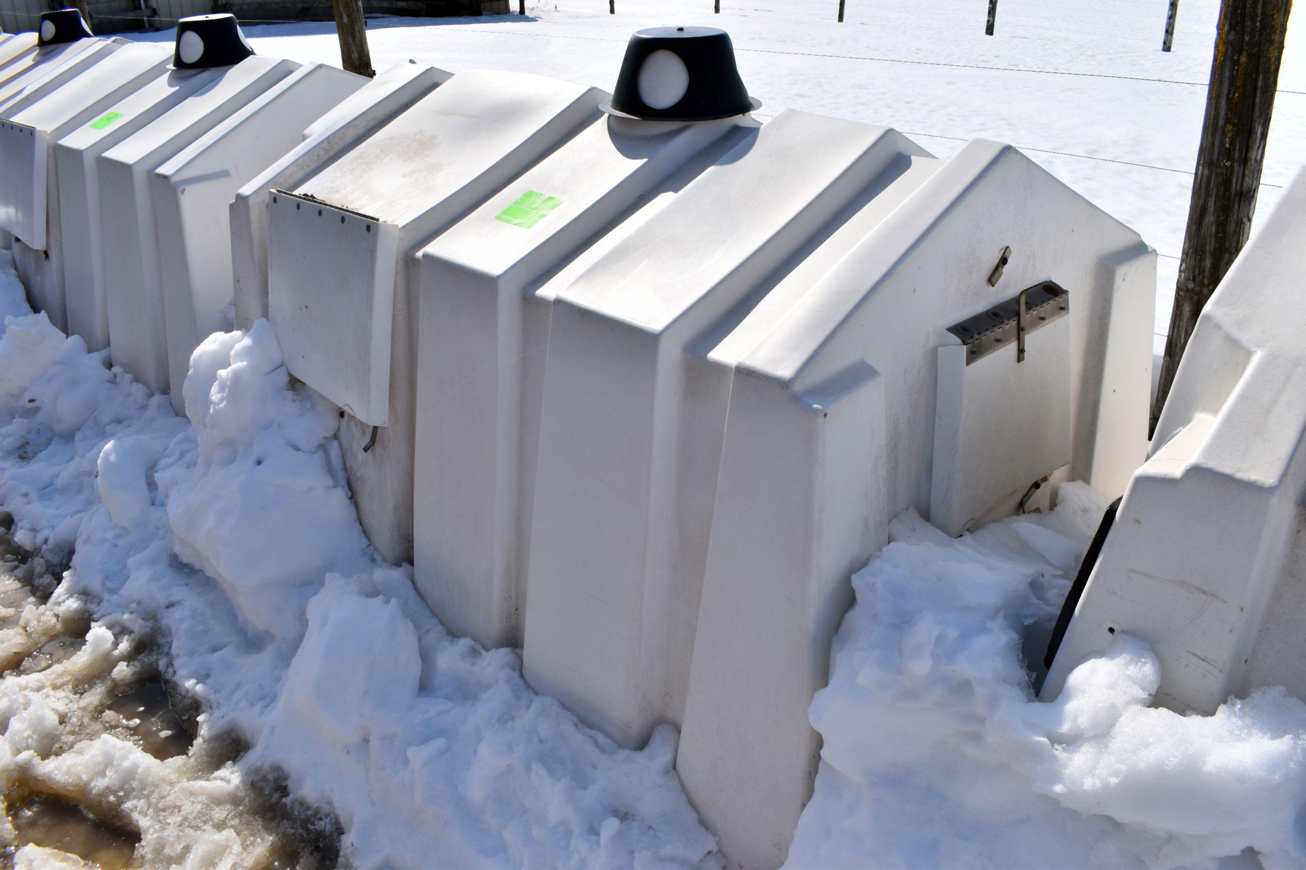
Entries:
POLYGON ((760 106, 739 78, 725 30, 649 27, 631 37, 602 110, 646 121, 710 121, 760 106))

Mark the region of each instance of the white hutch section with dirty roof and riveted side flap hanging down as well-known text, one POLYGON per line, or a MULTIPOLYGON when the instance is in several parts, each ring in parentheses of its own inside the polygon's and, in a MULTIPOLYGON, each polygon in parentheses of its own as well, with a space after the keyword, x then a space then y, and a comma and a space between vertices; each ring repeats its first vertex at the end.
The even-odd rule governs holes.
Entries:
POLYGON ((602 93, 466 72, 293 192, 273 193, 269 309, 286 365, 347 412, 363 528, 413 552, 417 250, 598 116, 602 93))

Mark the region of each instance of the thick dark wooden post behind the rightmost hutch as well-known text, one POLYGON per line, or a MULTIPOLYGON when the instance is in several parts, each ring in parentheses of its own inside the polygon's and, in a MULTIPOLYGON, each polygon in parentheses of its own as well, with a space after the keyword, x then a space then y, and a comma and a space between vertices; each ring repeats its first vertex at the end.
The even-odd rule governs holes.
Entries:
POLYGON ((1152 428, 1198 314, 1251 232, 1293 0, 1224 0, 1152 428))

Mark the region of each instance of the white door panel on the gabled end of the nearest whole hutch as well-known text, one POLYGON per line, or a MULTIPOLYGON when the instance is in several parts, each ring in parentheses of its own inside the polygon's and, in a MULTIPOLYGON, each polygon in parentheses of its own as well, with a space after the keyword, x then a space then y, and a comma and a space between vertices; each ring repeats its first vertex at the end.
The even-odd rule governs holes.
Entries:
MULTIPOLYGON (((982 340, 982 339, 980 339, 982 340)), ((1071 460, 1070 317, 969 365, 968 346, 939 348, 930 522, 969 531, 1004 496, 1071 460)))

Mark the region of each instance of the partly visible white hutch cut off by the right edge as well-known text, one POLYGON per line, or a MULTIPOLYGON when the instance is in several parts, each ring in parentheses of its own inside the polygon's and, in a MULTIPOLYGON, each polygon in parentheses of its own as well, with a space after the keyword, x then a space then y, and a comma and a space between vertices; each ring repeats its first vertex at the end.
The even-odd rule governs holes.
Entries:
POLYGON ((1127 633, 1158 656, 1173 710, 1258 686, 1306 698, 1303 245, 1306 172, 1202 312, 1043 697, 1127 633))

